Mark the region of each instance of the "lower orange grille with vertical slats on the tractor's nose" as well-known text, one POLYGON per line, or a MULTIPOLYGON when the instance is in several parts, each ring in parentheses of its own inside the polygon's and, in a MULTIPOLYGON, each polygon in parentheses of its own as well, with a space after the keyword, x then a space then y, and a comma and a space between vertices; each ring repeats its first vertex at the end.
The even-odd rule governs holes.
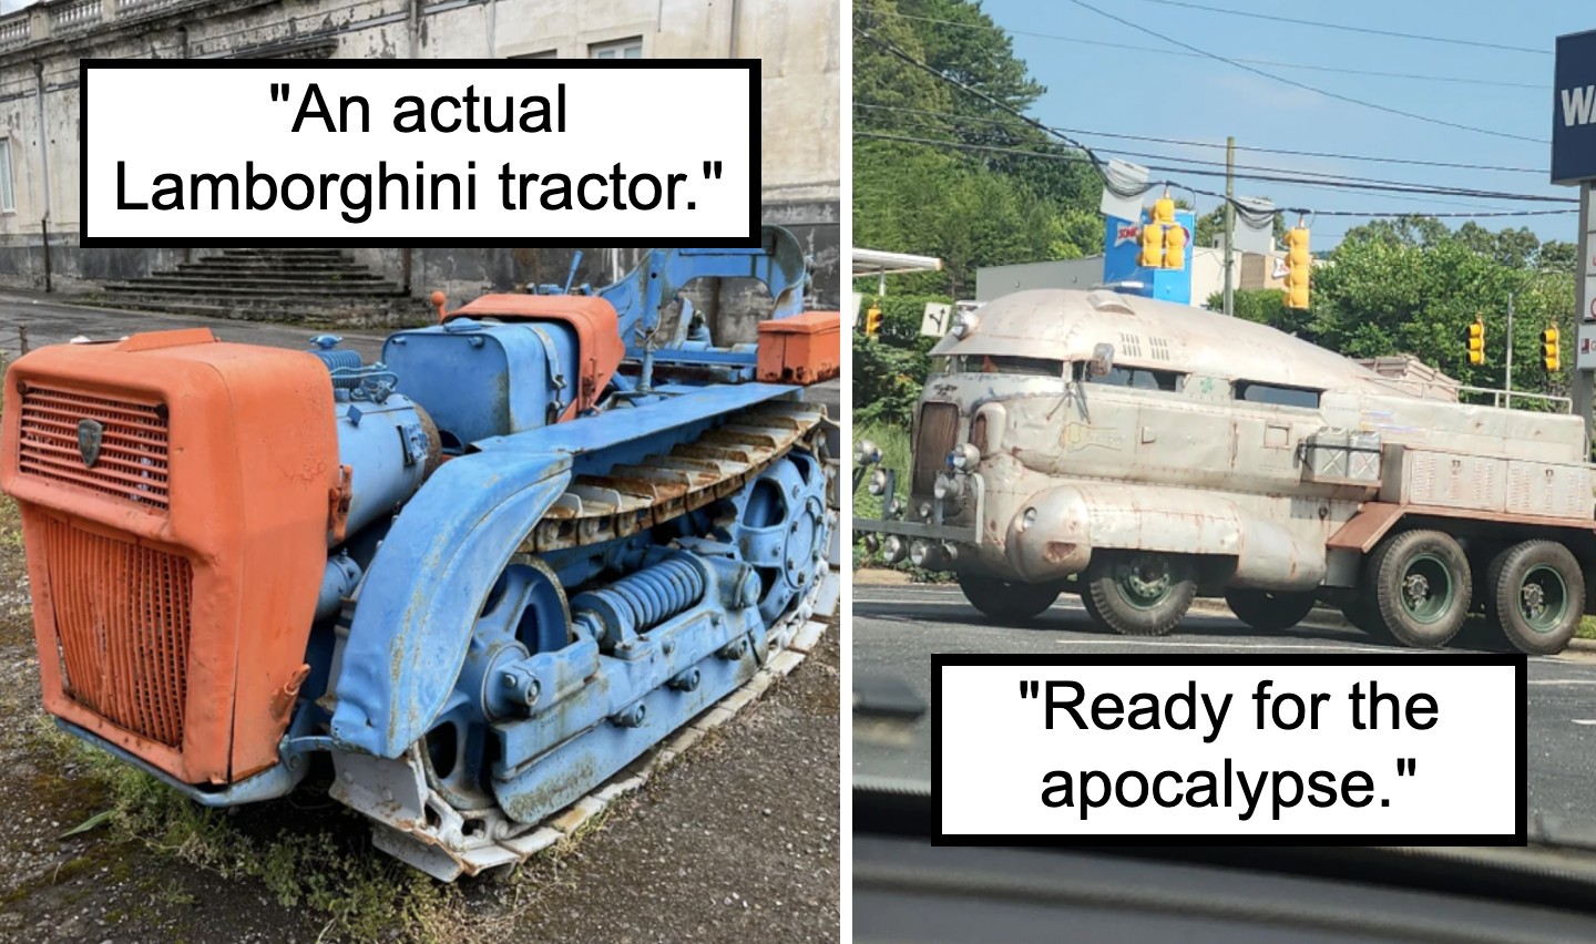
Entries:
POLYGON ((188 561, 54 518, 43 534, 67 695, 139 737, 180 746, 188 561))

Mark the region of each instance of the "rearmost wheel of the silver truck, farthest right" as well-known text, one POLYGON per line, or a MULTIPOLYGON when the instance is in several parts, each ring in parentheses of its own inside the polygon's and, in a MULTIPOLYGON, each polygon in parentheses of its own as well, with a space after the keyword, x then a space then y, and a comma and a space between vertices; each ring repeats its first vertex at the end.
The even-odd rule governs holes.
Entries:
POLYGON ((1519 652, 1562 652, 1580 625, 1585 574, 1567 547, 1526 541, 1491 561, 1486 612, 1519 652))

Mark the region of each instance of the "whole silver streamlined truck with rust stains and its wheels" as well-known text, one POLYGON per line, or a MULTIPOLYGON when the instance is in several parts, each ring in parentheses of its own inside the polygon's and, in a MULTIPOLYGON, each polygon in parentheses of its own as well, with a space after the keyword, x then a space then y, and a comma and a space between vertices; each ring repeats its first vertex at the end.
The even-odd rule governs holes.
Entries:
POLYGON ((1596 609, 1591 466, 1567 413, 1459 403, 1104 290, 999 298, 932 356, 907 501, 862 442, 855 475, 886 510, 854 526, 889 561, 954 571, 990 616, 1071 590, 1106 627, 1162 635, 1223 595, 1282 630, 1323 600, 1436 647, 1475 608, 1550 654, 1596 609))

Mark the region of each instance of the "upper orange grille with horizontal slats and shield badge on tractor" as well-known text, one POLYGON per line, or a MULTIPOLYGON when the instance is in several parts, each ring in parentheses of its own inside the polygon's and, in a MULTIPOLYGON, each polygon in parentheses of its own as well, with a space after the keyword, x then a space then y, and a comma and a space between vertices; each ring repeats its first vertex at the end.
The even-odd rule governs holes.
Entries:
POLYGON ((166 510, 166 407, 29 384, 22 391, 18 469, 166 510), (93 464, 78 445, 85 419, 102 431, 93 464))

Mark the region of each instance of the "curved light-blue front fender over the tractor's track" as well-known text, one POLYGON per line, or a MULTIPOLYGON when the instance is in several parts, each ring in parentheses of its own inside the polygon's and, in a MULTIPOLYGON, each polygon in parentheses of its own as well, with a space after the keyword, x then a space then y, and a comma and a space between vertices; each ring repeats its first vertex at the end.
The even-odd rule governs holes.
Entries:
POLYGON ((332 681, 334 741, 399 757, 445 708, 480 601, 570 483, 570 456, 492 450, 444 462, 378 547, 332 681))

